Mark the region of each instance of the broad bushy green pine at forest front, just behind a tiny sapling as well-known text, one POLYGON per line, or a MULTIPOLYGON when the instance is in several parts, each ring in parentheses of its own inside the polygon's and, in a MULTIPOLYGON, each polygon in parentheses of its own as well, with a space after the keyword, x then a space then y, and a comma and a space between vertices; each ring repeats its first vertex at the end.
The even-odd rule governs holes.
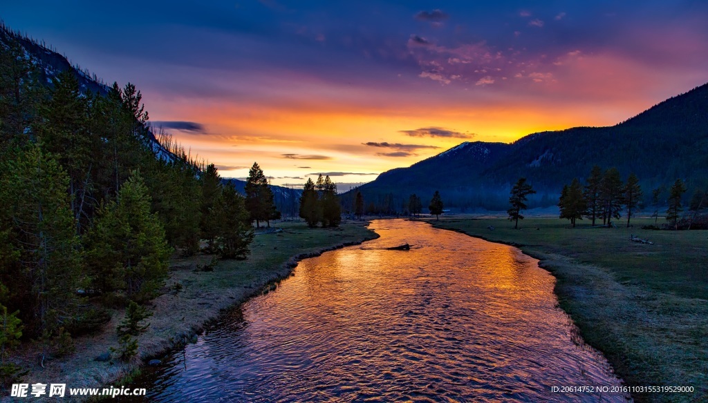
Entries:
POLYGON ((131 300, 154 298, 164 283, 171 250, 139 173, 122 185, 116 201, 98 212, 87 234, 87 263, 94 286, 123 290, 131 300))

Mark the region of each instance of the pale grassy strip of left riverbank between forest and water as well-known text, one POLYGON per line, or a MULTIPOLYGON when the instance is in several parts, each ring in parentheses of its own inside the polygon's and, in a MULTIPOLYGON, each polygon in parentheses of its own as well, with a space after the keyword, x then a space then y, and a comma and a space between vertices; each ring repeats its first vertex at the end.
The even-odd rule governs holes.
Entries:
MULTIPOLYGON (((212 255, 173 257, 164 294, 149 304, 153 315, 147 332, 138 337, 138 358, 130 363, 94 361, 110 347, 118 346, 115 327, 124 312, 115 310, 101 332, 76 338, 74 354, 45 362, 45 368, 35 359, 30 345, 22 346, 18 363, 29 370, 23 382, 65 383, 67 389, 115 385, 146 360, 159 359, 170 349, 195 340, 225 310, 275 289, 275 281, 290 275, 299 260, 377 238, 367 225, 350 221, 340 228, 325 229, 307 228, 304 223, 278 223, 282 232, 256 235, 248 259, 222 260, 212 271, 201 269, 212 261, 212 255)), ((6 399, 9 397, 3 401, 6 399)))

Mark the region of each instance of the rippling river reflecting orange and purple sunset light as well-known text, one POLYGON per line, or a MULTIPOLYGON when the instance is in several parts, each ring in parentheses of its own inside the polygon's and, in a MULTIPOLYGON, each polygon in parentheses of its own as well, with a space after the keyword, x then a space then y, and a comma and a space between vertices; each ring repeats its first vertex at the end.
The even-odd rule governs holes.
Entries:
POLYGON ((381 238, 300 262, 148 370, 149 400, 625 401, 552 391, 621 381, 557 308, 536 259, 426 223, 370 228, 381 238), (412 249, 385 250, 403 243, 412 249))

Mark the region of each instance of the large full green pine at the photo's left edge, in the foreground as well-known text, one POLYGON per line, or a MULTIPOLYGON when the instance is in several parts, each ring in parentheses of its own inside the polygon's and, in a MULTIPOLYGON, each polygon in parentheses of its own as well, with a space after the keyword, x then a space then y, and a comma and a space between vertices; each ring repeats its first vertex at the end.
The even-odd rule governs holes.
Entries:
POLYGON ((84 282, 69 177, 36 144, 0 165, 0 228, 8 243, 0 280, 13 284, 29 334, 54 337, 74 320, 75 291, 84 282))

